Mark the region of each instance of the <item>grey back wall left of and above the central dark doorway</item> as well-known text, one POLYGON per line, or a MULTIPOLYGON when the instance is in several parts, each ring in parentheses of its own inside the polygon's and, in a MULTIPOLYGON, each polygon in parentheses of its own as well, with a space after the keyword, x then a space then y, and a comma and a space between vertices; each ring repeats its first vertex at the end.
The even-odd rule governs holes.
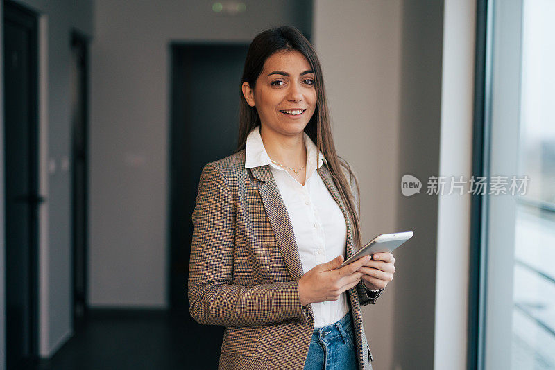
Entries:
POLYGON ((269 26, 310 31, 309 2, 245 1, 244 15, 212 2, 95 1, 91 49, 90 254, 92 306, 167 306, 169 44, 248 44, 269 26))

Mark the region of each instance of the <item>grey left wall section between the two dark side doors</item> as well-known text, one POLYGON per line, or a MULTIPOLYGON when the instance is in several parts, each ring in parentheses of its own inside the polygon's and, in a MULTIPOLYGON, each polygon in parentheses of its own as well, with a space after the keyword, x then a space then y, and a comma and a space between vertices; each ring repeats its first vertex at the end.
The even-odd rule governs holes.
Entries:
MULTIPOLYGON (((40 191, 47 201, 39 215, 39 324, 40 353, 49 355, 71 335, 69 41, 72 28, 80 30, 84 35, 92 35, 92 1, 17 2, 40 15, 40 191), (56 166, 56 170, 47 170, 50 164, 56 166)), ((3 114, 0 119, 3 119, 3 114)), ((3 161, 1 163, 3 165, 3 161)), ((3 212, 3 205, 1 211, 3 212)), ((3 227, 3 222, 1 225, 3 227)), ((3 244, 1 249, 0 267, 3 267, 3 244)), ((3 292, 1 296, 3 299, 3 292)), ((2 304, 2 310, 3 306, 2 304)), ((0 313, 4 317, 5 312, 0 313)), ((3 360, 5 359, 2 358, 3 360)))

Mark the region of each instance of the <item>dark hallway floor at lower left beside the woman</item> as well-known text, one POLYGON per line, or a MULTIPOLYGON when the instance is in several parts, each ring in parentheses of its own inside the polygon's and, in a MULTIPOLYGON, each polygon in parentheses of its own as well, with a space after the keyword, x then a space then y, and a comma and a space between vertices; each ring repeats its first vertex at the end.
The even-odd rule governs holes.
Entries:
POLYGON ((222 337, 222 326, 201 326, 189 312, 95 310, 32 369, 217 369, 222 337))

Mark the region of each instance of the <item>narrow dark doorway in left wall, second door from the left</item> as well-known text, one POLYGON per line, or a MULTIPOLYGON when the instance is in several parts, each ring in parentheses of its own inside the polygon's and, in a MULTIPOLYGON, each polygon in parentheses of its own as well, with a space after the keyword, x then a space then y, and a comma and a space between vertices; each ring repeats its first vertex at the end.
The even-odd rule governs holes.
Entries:
POLYGON ((71 35, 71 243, 74 329, 87 313, 88 41, 71 35))

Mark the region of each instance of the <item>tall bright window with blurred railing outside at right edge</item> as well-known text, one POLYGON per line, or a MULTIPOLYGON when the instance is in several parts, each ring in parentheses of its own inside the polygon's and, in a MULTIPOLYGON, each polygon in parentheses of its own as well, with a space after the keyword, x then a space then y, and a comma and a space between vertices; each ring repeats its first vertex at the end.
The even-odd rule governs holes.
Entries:
POLYGON ((555 369, 555 1, 487 9, 477 368, 555 369))

